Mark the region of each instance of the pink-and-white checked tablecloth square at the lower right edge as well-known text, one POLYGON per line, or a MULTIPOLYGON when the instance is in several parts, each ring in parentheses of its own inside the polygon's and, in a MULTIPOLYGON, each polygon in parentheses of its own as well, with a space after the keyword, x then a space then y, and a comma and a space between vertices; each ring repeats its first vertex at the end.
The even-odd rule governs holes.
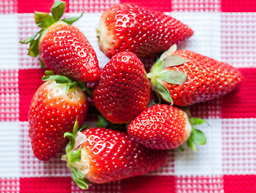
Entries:
POLYGON ((222 120, 223 173, 256 174, 256 119, 222 120))

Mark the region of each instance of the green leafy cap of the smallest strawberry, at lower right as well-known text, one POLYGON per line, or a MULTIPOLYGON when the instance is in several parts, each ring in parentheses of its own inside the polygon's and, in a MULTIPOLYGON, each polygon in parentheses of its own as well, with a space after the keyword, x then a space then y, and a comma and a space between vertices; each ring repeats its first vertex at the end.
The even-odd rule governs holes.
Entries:
POLYGON ((196 144, 204 145, 206 143, 206 137, 201 130, 196 129, 194 126, 201 125, 203 123, 206 123, 207 125, 209 125, 209 123, 204 121, 203 119, 196 118, 196 117, 191 117, 189 119, 189 122, 192 125, 192 132, 188 137, 187 146, 190 147, 192 150, 196 151, 196 144))

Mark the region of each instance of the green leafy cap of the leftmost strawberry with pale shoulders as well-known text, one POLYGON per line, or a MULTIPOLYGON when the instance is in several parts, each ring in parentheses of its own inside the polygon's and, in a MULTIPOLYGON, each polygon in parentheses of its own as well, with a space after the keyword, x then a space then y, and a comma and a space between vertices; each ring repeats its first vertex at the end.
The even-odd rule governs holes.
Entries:
POLYGON ((72 80, 68 78, 67 76, 63 75, 55 75, 54 72, 52 71, 45 71, 45 76, 43 76, 42 80, 47 81, 47 80, 55 80, 57 84, 67 84, 67 90, 74 88, 78 86, 81 88, 82 91, 85 91, 85 84, 81 83, 77 80, 72 80))

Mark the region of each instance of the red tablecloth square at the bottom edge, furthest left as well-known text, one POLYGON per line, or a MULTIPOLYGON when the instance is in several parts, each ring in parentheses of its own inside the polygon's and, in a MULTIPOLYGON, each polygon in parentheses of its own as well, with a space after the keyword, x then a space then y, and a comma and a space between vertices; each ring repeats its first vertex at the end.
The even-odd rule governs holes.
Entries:
POLYGON ((71 178, 42 177, 19 179, 20 193, 71 193, 71 178))

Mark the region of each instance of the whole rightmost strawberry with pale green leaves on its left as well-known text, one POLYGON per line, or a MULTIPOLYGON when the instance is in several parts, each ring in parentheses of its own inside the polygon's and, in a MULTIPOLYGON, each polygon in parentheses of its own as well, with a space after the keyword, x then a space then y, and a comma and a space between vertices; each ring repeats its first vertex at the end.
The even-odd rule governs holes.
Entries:
POLYGON ((209 101, 242 83, 241 73, 229 64, 193 51, 175 50, 173 46, 164 52, 147 75, 155 92, 169 104, 209 101))

